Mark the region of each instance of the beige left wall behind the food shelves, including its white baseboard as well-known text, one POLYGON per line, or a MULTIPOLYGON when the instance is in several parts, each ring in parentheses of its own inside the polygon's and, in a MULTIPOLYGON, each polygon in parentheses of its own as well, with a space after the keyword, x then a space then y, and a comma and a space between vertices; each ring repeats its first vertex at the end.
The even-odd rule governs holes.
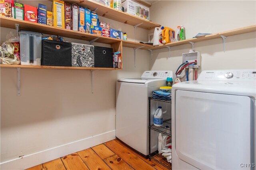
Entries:
MULTIPOLYGON (((50 1, 19 2, 51 6, 50 1)), ((102 17, 100 21, 125 31, 128 40, 134 40, 132 25, 102 17)), ((11 29, 0 28, 2 42, 6 40, 6 34, 11 29)), ((15 33, 14 29, 13 31, 15 33)), ((147 31, 138 28, 137 41, 146 42, 147 38, 147 31)), ((66 40, 88 44, 88 41, 66 40)), ((99 43, 93 45, 110 47, 99 43)), ((20 160, 24 161, 26 156, 29 157, 25 160, 26 163, 20 163, 20 160, 11 161, 2 164, 1 168, 25 169, 114 139, 116 80, 140 76, 150 68, 149 51, 139 49, 136 55, 137 67, 134 68, 133 49, 123 47, 123 70, 94 72, 93 94, 90 70, 22 68, 21 96, 16 96, 16 68, 1 68, 1 163, 23 155, 24 158, 20 160), (97 135, 102 137, 91 142, 86 140, 97 135), (79 143, 81 140, 84 142, 79 143), (62 150, 56 147, 62 147, 62 150), (38 153, 46 153, 46 150, 54 152, 38 153)))

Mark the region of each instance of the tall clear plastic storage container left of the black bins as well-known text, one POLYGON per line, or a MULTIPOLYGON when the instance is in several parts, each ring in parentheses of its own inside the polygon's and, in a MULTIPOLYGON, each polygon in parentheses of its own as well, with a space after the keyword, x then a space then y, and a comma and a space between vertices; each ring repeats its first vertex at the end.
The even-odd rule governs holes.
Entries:
POLYGON ((41 65, 42 33, 19 31, 22 65, 41 65))

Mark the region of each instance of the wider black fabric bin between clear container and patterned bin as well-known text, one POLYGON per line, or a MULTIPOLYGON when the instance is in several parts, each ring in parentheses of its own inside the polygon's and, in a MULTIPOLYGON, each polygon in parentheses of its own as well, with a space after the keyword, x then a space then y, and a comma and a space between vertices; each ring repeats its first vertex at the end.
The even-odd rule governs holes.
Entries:
POLYGON ((43 39, 42 66, 71 66, 71 43, 43 39))

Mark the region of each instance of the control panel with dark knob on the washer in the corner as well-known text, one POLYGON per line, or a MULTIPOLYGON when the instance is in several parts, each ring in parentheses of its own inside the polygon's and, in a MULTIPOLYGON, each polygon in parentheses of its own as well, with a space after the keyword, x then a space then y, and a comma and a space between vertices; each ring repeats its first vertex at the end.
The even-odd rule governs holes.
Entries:
POLYGON ((145 71, 141 78, 172 78, 173 74, 170 70, 160 70, 160 71, 145 71))

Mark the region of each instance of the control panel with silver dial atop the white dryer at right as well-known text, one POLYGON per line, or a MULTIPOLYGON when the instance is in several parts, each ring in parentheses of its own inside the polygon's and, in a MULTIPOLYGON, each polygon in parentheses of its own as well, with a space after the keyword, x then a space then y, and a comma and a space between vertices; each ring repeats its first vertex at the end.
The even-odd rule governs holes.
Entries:
POLYGON ((197 80, 256 81, 256 70, 204 70, 197 80))

